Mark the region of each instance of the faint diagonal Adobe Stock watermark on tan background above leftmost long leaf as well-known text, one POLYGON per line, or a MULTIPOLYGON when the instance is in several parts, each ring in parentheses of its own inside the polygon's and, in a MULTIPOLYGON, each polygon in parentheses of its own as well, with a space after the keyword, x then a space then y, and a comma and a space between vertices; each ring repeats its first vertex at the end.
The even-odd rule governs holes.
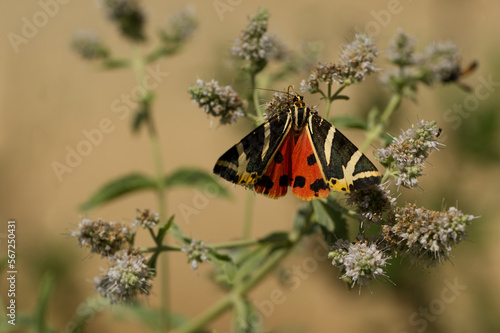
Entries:
MULTIPOLYGON (((110 110, 118 120, 128 118, 132 110, 137 109, 138 102, 146 97, 148 91, 156 89, 169 75, 168 72, 162 72, 159 65, 156 65, 156 68, 147 67, 146 72, 141 85, 133 87, 130 92, 121 94, 119 98, 115 98, 111 102, 110 110)), ((94 128, 83 129, 81 131, 83 138, 77 144, 65 147, 64 160, 51 163, 52 170, 59 182, 64 180, 65 174, 72 173, 75 168, 82 164, 85 157, 88 157, 94 148, 101 145, 106 135, 113 133, 115 129, 116 124, 113 119, 108 117, 102 118, 94 128)))

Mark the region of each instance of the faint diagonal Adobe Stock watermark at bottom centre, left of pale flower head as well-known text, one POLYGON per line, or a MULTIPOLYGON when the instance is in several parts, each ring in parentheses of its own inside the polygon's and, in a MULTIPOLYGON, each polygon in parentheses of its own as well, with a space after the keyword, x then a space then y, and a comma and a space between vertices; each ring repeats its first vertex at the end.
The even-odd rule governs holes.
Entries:
MULTIPOLYGON (((300 264, 293 264, 285 271, 286 279, 284 284, 288 287, 289 291, 297 290, 302 285, 302 282, 309 279, 311 274, 318 269, 320 262, 328 260, 328 246, 319 239, 316 241, 318 244, 314 248, 312 256, 302 259, 300 264)), ((285 292, 280 288, 271 290, 269 297, 266 299, 253 300, 252 304, 255 307, 255 311, 246 318, 247 323, 251 323, 254 326, 261 325, 264 318, 272 316, 277 306, 285 303, 286 300, 285 292)))

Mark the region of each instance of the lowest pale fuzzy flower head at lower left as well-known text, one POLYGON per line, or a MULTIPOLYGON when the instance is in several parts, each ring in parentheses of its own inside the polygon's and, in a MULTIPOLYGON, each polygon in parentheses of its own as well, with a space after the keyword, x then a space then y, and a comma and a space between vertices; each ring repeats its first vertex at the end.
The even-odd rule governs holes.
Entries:
POLYGON ((138 251, 120 251, 109 258, 111 267, 102 279, 95 278, 96 290, 111 303, 134 303, 139 294, 149 295, 152 274, 147 258, 138 251))

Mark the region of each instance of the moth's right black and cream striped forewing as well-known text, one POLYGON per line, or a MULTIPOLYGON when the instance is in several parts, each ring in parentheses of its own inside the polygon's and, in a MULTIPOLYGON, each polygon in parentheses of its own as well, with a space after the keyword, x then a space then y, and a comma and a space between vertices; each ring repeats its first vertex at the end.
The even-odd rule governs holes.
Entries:
POLYGON ((307 134, 331 189, 351 192, 380 183, 380 173, 373 163, 328 121, 311 114, 307 134))

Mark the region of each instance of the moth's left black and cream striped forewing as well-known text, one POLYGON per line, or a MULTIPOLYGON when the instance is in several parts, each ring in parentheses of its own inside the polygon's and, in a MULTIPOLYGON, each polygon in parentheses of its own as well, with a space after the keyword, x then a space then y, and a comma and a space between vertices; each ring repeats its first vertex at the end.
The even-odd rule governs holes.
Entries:
POLYGON ((255 184, 291 127, 290 113, 275 115, 225 152, 215 163, 214 173, 236 184, 255 184))

